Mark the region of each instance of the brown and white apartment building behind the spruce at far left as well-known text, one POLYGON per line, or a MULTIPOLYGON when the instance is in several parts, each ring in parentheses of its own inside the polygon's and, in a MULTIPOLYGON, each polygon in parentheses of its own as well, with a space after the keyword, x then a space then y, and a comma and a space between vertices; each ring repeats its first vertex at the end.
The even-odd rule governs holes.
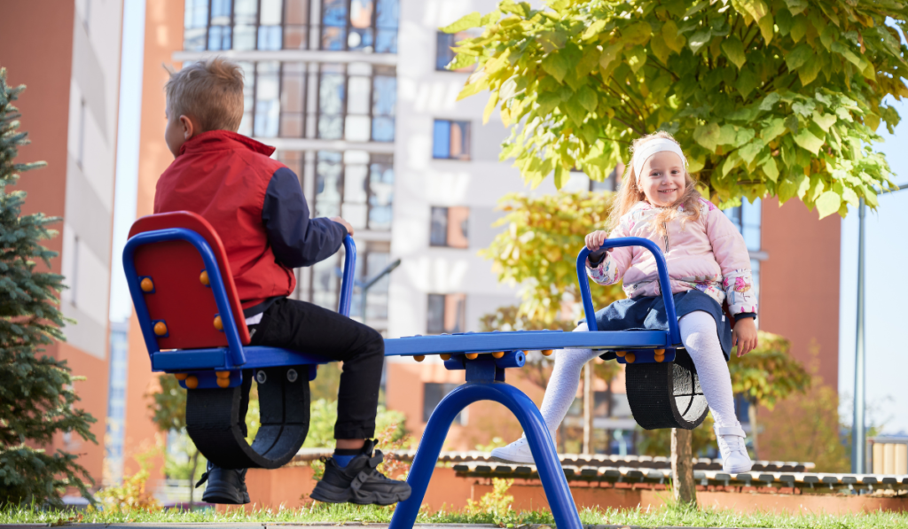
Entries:
POLYGON ((27 86, 16 106, 32 144, 17 161, 47 162, 20 183, 28 192, 23 212, 63 218, 54 226, 60 234, 45 245, 60 254, 51 268, 66 277, 60 308, 75 323, 45 354, 86 377, 75 383, 79 406, 98 419, 97 445, 62 434, 50 448, 77 454, 101 485, 123 1, 34 0, 3 9, 0 67, 8 83, 27 86))

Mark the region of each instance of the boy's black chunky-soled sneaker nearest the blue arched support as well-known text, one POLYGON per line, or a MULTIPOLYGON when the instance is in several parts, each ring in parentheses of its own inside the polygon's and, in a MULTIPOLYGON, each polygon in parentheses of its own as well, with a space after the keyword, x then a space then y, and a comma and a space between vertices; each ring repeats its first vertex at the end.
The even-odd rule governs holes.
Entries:
POLYGON ((410 497, 410 485, 385 477, 375 469, 384 456, 371 456, 375 441, 367 440, 362 453, 347 466, 334 458, 325 459, 325 474, 315 485, 311 498, 329 504, 392 505, 410 497))

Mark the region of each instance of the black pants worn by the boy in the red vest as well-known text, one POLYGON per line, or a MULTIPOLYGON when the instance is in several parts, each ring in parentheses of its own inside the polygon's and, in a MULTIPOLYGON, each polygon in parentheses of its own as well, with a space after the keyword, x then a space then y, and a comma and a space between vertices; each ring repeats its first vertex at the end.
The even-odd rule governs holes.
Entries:
MULTIPOLYGON (((265 310, 258 325, 249 326, 250 345, 286 348, 343 362, 338 388, 335 439, 375 436, 381 369, 385 341, 374 328, 318 305, 296 299, 279 299, 265 310)), ((246 432, 252 369, 242 375, 240 424, 246 432)))

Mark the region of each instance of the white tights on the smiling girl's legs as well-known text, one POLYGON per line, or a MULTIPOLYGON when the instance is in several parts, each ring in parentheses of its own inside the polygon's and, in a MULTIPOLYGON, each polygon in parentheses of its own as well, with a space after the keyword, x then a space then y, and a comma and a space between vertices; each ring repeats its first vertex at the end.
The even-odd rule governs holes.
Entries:
MULTIPOLYGON (((694 360, 700 386, 716 425, 736 425, 732 380, 716 334, 716 319, 708 312, 697 310, 679 319, 678 327, 681 329, 681 341, 694 360)), ((586 323, 574 329, 575 332, 586 330, 586 323)), ((561 349, 555 352, 555 369, 548 380, 541 408, 549 431, 557 430, 568 414, 568 407, 577 396, 584 364, 601 353, 592 349, 561 349)))

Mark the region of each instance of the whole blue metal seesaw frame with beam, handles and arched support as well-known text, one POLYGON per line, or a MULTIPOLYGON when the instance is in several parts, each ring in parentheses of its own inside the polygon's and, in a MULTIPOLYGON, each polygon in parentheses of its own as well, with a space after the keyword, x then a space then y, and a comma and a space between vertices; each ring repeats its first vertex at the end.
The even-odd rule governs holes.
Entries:
MULTIPOLYGON (((536 460, 539 479, 548 498, 555 523, 560 529, 582 529, 577 506, 568 487, 568 480, 561 469, 555 445, 548 436, 548 429, 538 407, 517 387, 505 383, 505 369, 522 367, 526 360, 524 351, 561 348, 596 348, 603 350, 636 349, 638 362, 652 362, 652 350, 666 349, 666 361, 674 358, 674 349, 681 344, 677 326, 674 299, 668 282, 666 261, 661 250, 650 240, 622 238, 607 240, 606 248, 641 246, 649 250, 656 259, 659 284, 668 316, 668 329, 641 331, 597 331, 596 314, 593 308, 586 274, 586 260, 589 250, 584 248, 577 256, 577 279, 591 332, 562 332, 560 330, 461 333, 430 337, 392 338, 385 340, 385 356, 445 355, 445 367, 451 370, 465 370, 466 384, 455 388, 444 397, 429 416, 429 424, 419 444, 419 449, 410 467, 408 483, 412 494, 400 502, 390 522, 390 529, 410 529, 416 522, 419 506, 426 494, 429 479, 438 462, 441 446, 454 418, 463 408, 480 400, 498 402, 517 416, 520 426, 527 435, 530 451, 536 460), (648 357, 646 356, 649 352, 648 357), (493 354, 488 354, 493 353, 493 354), (467 355, 469 354, 469 358, 467 355)), ((353 273, 356 260, 356 245, 348 236, 344 240, 344 259, 341 299, 338 312, 350 315, 350 299, 353 289, 353 273)), ((314 378, 317 364, 326 363, 321 358, 302 351, 281 348, 243 347, 233 312, 223 286, 223 279, 211 247, 196 232, 183 228, 154 230, 139 233, 127 241, 123 250, 123 267, 133 297, 136 316, 143 330, 145 344, 152 359, 153 371, 169 373, 192 372, 199 377, 199 387, 215 387, 215 371, 232 369, 239 375, 240 369, 311 365, 310 377, 314 378), (185 240, 202 256, 208 271, 211 288, 222 315, 223 330, 227 335, 228 347, 192 350, 161 351, 155 341, 153 321, 145 306, 143 292, 133 264, 135 250, 143 244, 168 240, 185 240)), ((231 377, 235 387, 241 377, 231 377)), ((183 382, 181 382, 183 384, 183 382)))

